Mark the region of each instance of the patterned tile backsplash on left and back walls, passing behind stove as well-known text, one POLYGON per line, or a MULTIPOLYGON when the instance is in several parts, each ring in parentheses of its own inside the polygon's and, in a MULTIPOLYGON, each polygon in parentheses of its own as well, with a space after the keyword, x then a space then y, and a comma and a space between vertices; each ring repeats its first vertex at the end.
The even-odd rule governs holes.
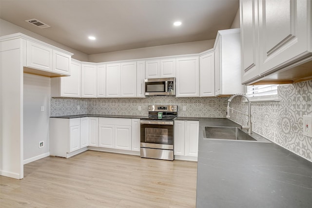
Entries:
POLYGON ((149 96, 146 98, 51 98, 51 116, 74 114, 148 115, 148 105, 177 105, 178 116, 226 116, 227 98, 149 96), (79 105, 80 110, 77 109, 79 105), (138 107, 141 106, 141 111, 138 107), (183 106, 186 111, 183 111, 183 106))

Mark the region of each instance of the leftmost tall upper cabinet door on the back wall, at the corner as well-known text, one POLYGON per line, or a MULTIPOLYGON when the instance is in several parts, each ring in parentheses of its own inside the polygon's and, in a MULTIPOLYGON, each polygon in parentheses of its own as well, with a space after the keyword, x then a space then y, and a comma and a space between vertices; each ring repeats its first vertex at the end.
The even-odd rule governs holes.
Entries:
POLYGON ((81 97, 97 97, 96 65, 81 65, 81 97))

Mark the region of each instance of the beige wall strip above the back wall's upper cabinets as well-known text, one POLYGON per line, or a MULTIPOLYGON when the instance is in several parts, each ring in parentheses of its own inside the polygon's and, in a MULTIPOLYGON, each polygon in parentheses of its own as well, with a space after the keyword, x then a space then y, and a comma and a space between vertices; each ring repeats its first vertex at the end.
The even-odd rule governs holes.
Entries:
POLYGON ((214 47, 215 39, 194 42, 160 45, 124 51, 89 55, 90 62, 105 62, 137 58, 164 57, 184 54, 197 54, 214 47))

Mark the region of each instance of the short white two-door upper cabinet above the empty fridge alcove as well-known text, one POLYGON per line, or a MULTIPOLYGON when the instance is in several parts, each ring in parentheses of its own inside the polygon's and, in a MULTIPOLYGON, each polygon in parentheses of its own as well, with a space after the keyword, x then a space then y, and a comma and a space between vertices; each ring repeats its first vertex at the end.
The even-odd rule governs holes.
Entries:
POLYGON ((70 75, 71 56, 69 54, 30 40, 26 42, 26 67, 70 75))

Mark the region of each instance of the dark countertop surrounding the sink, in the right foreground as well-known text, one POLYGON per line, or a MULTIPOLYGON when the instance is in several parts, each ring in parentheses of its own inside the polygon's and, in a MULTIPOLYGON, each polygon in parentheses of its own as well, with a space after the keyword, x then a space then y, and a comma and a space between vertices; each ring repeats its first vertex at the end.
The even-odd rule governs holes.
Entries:
POLYGON ((311 162, 274 143, 204 140, 204 126, 238 125, 199 119, 196 208, 311 207, 311 162))

